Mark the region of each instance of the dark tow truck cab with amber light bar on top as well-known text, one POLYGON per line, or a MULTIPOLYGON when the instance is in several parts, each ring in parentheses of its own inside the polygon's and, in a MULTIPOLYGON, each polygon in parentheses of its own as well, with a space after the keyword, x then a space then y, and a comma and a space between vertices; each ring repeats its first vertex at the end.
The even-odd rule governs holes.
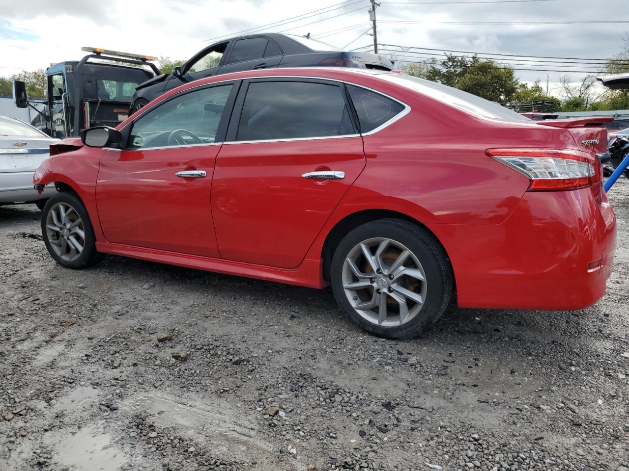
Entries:
POLYGON ((91 47, 81 50, 90 54, 46 69, 47 97, 43 100, 30 100, 26 84, 13 82, 16 106, 35 109, 38 114, 31 124, 53 138, 80 136, 82 129, 93 126, 118 126, 128 117, 138 84, 160 74, 151 62, 153 56, 91 47))

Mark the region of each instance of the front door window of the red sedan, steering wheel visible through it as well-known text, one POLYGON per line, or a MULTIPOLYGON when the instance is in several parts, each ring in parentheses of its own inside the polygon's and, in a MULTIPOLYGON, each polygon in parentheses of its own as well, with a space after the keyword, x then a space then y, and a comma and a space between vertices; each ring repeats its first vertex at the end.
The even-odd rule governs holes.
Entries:
POLYGON ((133 123, 128 148, 213 143, 232 86, 196 90, 147 111, 133 123))

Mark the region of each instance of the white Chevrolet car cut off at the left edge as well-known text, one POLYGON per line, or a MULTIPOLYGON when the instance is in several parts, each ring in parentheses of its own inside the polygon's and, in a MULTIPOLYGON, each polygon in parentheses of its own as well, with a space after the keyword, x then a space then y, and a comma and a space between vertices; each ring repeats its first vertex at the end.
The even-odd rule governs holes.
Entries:
POLYGON ((50 144, 58 141, 19 119, 0 116, 0 205, 35 203, 43 208, 55 188, 44 188, 39 195, 33 174, 50 155, 50 144))

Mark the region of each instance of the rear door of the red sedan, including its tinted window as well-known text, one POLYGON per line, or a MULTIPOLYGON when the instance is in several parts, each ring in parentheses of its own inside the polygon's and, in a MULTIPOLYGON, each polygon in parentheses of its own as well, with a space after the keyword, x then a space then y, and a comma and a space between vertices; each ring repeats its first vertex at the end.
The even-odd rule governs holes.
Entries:
POLYGON ((343 84, 245 81, 218 153, 212 212, 224 259, 295 268, 365 166, 343 84))

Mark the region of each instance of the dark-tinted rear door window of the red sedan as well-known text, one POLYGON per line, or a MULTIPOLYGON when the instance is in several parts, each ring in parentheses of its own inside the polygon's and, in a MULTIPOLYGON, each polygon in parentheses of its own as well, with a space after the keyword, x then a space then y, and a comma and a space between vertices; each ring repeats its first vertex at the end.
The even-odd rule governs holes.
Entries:
POLYGON ((252 82, 237 141, 323 138, 354 134, 343 92, 314 82, 252 82))

